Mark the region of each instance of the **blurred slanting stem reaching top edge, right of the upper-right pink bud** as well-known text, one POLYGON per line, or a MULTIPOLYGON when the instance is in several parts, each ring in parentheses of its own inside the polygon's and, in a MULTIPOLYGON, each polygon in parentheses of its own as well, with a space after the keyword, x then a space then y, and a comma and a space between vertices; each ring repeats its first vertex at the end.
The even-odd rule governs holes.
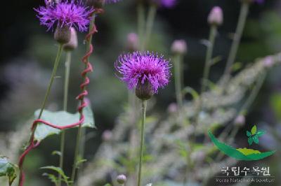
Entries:
POLYGON ((232 66, 235 61, 235 57, 237 55, 237 50, 240 45, 241 37, 243 34, 244 26, 247 20, 247 15, 249 12, 249 3, 242 3, 242 7, 240 10, 240 15, 238 19, 237 28, 235 31, 235 35, 233 38, 233 43, 230 48, 230 54, 228 56, 228 60, 226 62, 226 69, 223 73, 223 78, 227 81, 230 78, 230 73, 232 71, 232 66))

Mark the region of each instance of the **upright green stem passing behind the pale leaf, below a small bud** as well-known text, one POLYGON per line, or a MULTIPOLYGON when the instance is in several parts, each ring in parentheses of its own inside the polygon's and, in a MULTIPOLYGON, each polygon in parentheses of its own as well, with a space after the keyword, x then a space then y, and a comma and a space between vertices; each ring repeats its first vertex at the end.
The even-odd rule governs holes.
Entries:
MULTIPOLYGON (((67 111, 67 100, 68 100, 68 87, 70 82, 70 64, 71 64, 71 52, 66 52, 65 60, 65 87, 63 92, 63 110, 67 111)), ((60 169, 63 170, 63 158, 65 154, 65 131, 61 131, 60 135, 60 169)), ((62 177, 58 174, 58 186, 61 185, 62 177)))

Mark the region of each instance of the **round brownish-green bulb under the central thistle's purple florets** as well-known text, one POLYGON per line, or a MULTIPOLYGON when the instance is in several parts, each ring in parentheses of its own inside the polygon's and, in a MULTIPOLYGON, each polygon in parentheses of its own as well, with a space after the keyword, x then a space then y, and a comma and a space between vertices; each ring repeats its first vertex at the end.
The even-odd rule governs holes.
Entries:
POLYGON ((138 80, 138 85, 136 85, 136 96, 141 100, 148 100, 154 94, 153 87, 148 80, 145 80, 144 83, 141 83, 141 80, 138 80))

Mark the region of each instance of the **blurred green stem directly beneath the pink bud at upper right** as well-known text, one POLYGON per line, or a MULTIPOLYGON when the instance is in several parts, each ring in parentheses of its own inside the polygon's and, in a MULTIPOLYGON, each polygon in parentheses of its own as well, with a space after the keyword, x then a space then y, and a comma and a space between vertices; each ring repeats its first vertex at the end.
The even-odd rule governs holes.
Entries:
POLYGON ((211 57, 212 57, 213 51, 214 51, 216 32, 217 32, 216 25, 211 26, 211 31, 209 34, 209 44, 208 44, 207 55, 206 55, 206 59, 205 59, 205 67, 204 67, 204 73, 203 73, 201 94, 204 93, 207 88, 207 81, 208 81, 209 73, 210 73, 211 57))

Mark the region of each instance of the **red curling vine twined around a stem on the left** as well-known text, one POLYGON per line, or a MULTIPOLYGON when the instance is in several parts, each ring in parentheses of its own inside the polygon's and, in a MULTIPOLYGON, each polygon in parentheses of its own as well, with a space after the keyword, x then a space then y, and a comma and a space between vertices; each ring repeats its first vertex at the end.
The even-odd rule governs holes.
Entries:
MULTIPOLYGON (((97 10, 96 13, 103 13, 103 10, 97 10)), ((93 34, 95 34, 97 32, 96 29, 96 25, 93 26, 93 29, 91 31, 89 31, 89 34, 86 35, 86 41, 90 42, 90 38, 91 36, 93 36, 93 34)), ((77 127, 80 124, 82 124, 85 120, 84 114, 83 114, 83 109, 88 105, 88 103, 86 103, 86 101, 84 101, 84 97, 87 96, 89 93, 86 90, 86 87, 89 85, 90 83, 90 79, 87 77, 87 73, 92 72, 93 71, 93 66, 91 65, 91 63, 89 62, 89 57, 91 56, 91 54, 93 53, 93 45, 90 43, 90 48, 89 51, 86 52, 86 55, 84 55, 84 57, 82 58, 82 62, 85 64, 85 69, 84 71, 82 71, 81 76, 82 78, 84 78, 84 82, 81 83, 80 88, 81 88, 81 93, 77 96, 77 100, 80 101, 80 106, 78 107, 78 112, 80 115, 80 120, 79 122, 75 122, 73 124, 68 124, 65 126, 58 126, 56 124, 52 124, 51 122, 47 122, 45 120, 34 120, 33 124, 32 124, 32 136, 30 138, 30 144, 27 146, 27 148, 25 149, 25 151, 22 153, 22 155, 20 155, 20 160, 18 163, 18 166, 20 168, 20 180, 19 180, 19 186, 23 186, 24 182, 25 182, 25 173, 22 170, 22 165, 23 162, 25 161, 25 157, 28 155, 28 153, 34 149, 37 148, 37 146, 39 146, 39 142, 38 141, 34 141, 34 130, 36 129, 37 125, 40 124, 46 124, 49 127, 53 127, 55 129, 70 129, 73 127, 77 127)))

